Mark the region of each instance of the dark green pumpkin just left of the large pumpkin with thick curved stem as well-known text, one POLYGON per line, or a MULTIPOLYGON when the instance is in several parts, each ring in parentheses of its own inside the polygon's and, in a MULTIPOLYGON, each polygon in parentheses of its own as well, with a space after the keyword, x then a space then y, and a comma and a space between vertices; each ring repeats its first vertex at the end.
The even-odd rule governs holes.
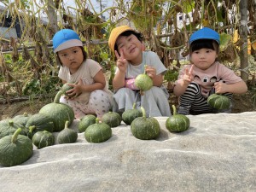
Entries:
POLYGON ((35 113, 26 122, 26 135, 32 138, 37 131, 52 132, 55 129, 53 119, 44 113, 35 113))

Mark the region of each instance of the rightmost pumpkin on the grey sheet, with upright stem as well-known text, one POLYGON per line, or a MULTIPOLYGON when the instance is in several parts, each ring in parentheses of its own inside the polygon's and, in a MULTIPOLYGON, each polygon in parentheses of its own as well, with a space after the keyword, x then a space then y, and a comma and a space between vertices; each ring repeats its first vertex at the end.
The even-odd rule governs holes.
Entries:
POLYGON ((166 128, 170 132, 182 132, 187 131, 190 126, 190 120, 186 115, 177 114, 177 110, 172 105, 173 114, 171 117, 166 119, 166 128))

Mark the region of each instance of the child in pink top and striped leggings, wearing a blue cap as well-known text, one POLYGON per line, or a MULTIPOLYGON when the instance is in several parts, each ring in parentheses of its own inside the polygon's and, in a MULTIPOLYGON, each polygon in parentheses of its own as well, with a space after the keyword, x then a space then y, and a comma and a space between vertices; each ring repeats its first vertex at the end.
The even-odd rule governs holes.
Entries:
POLYGON ((216 111, 207 104, 207 97, 213 93, 223 94, 232 100, 233 93, 247 92, 247 84, 232 70, 217 61, 219 34, 204 27, 189 38, 190 65, 184 66, 174 86, 179 96, 177 113, 230 113, 230 108, 216 111))

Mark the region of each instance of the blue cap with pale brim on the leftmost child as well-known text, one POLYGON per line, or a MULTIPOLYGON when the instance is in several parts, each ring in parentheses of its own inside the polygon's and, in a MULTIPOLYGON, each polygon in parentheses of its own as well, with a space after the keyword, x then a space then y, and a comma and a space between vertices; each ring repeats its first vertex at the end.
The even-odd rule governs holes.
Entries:
POLYGON ((78 33, 71 29, 61 29, 61 31, 56 32, 55 36, 52 38, 52 44, 54 53, 71 47, 83 46, 83 42, 79 38, 78 33))

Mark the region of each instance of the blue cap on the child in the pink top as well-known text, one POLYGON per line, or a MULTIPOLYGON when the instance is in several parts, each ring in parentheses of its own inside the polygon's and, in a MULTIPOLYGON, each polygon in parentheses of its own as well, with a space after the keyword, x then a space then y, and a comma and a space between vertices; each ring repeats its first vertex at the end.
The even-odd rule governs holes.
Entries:
POLYGON ((212 39, 219 44, 219 34, 211 28, 204 27, 196 32, 194 32, 189 38, 189 45, 192 44, 195 40, 199 39, 212 39))

